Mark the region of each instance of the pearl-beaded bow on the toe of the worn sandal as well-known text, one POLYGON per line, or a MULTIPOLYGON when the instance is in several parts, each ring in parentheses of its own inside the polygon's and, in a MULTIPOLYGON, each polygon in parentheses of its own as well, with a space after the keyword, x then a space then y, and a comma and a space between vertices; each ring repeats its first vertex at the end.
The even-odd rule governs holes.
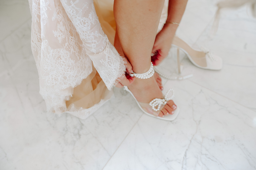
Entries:
POLYGON ((174 90, 171 88, 167 91, 167 93, 165 94, 165 98, 164 99, 159 99, 159 98, 155 98, 153 99, 149 105, 152 106, 152 109, 154 111, 159 111, 160 110, 160 107, 162 105, 165 105, 169 100, 172 100, 174 98, 174 90), (168 94, 172 92, 172 95, 171 97, 167 97, 168 94))

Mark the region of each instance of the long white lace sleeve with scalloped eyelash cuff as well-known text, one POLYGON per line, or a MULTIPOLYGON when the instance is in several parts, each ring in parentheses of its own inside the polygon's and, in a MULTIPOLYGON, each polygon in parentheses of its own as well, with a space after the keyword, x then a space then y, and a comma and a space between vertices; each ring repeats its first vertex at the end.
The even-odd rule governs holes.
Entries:
POLYGON ((125 71, 124 61, 102 31, 93 1, 61 0, 93 65, 110 90, 125 71))

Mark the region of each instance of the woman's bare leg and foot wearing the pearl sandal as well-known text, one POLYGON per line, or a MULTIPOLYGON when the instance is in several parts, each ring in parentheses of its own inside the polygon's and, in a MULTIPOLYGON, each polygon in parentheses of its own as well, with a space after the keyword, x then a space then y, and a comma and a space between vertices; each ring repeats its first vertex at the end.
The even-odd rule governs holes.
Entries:
MULTIPOLYGON (((164 0, 115 0, 116 30, 124 55, 135 73, 145 73, 150 68, 151 52, 160 20, 164 0)), ((136 78, 129 86, 139 102, 149 103, 161 98, 162 92, 154 77, 136 78)), ((175 108, 169 101, 159 116, 172 114, 175 108)))

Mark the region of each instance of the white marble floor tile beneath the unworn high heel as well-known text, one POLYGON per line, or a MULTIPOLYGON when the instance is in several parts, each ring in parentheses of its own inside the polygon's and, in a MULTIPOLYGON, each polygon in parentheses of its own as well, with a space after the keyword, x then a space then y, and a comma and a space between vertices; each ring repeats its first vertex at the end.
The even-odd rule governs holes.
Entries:
POLYGON ((249 14, 247 6, 224 10, 212 38, 212 25, 207 26, 194 46, 221 56, 223 69, 200 74, 201 69, 190 65, 195 75, 190 80, 256 111, 256 18, 249 14))

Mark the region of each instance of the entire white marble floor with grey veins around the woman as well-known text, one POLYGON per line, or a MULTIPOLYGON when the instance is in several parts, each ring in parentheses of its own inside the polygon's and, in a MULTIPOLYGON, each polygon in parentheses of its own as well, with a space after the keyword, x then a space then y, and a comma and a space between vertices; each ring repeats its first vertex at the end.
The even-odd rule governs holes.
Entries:
POLYGON ((46 112, 30 47, 27 0, 0 2, 1 170, 256 169, 256 19, 249 7, 225 10, 214 36, 216 0, 189 0, 177 35, 223 58, 221 71, 163 79, 180 114, 143 114, 130 94, 114 96, 86 120, 46 112), (131 107, 132 106, 132 107, 131 107))

